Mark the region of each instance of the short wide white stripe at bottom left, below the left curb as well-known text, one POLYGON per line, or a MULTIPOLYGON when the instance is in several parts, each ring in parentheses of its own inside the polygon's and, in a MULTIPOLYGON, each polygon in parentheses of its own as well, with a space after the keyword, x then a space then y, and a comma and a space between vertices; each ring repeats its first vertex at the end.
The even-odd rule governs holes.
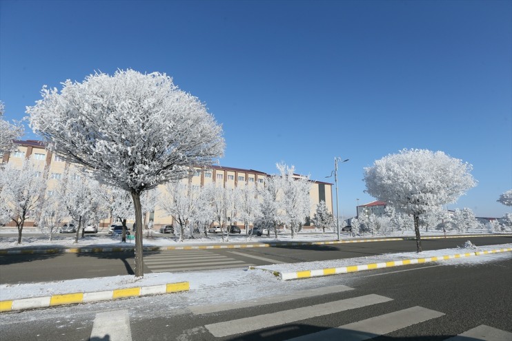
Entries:
POLYGON ((128 310, 97 313, 90 340, 132 341, 128 310))

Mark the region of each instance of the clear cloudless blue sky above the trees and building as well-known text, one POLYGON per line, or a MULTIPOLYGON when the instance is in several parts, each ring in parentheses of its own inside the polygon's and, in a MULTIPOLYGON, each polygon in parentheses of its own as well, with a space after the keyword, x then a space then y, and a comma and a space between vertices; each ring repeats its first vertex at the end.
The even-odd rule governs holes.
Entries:
MULTIPOLYGON (((43 85, 165 72, 224 126, 221 165, 315 180, 339 164, 355 215, 364 167, 400 149, 473 165, 450 209, 511 212, 512 2, 0 0, 0 100, 21 119, 43 85)), ((29 129, 25 138, 37 138, 29 129)), ((334 192, 334 186, 333 186, 334 192)))

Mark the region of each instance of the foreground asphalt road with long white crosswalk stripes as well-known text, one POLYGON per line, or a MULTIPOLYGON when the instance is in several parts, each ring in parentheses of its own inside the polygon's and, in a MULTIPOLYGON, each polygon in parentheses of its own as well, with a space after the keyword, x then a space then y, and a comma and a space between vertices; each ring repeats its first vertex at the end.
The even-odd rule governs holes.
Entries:
MULTIPOLYGON (((364 340, 365 328, 374 330, 382 319, 386 323, 381 327, 393 330, 383 336, 371 334, 374 340, 446 340, 475 328, 512 333, 512 260, 508 254, 489 257, 493 260, 484 264, 411 265, 291 282, 273 280, 265 288, 206 288, 204 293, 3 313, 0 335, 19 341, 280 341, 336 328, 344 333, 336 340, 364 340), (265 291, 263 299, 268 301, 250 299, 255 291, 265 291), (212 305, 213 298, 224 304, 212 305), (347 309, 349 301, 363 303, 347 309), (101 329, 109 321, 115 326, 101 329)), ((510 340, 510 335, 495 340, 510 340)), ((333 338, 319 334, 304 340, 333 338)))

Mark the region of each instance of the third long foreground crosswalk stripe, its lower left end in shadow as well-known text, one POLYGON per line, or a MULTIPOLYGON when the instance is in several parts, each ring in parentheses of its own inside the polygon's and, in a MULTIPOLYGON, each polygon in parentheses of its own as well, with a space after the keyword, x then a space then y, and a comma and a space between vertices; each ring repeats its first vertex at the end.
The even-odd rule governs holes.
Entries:
POLYGON ((412 324, 439 318, 444 313, 422 307, 412 307, 393 313, 375 316, 366 320, 344 324, 337 328, 326 329, 317 333, 302 335, 288 341, 313 341, 313 340, 351 340, 361 341, 375 338, 402 329, 412 324))

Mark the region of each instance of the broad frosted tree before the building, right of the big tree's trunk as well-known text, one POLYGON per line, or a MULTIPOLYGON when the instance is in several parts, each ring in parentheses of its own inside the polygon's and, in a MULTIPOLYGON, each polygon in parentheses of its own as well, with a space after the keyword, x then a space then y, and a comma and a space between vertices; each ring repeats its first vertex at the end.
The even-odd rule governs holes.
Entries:
POLYGON ((190 184, 172 182, 166 184, 166 192, 168 194, 158 200, 158 205, 179 225, 179 242, 182 242, 197 209, 199 189, 190 184))

